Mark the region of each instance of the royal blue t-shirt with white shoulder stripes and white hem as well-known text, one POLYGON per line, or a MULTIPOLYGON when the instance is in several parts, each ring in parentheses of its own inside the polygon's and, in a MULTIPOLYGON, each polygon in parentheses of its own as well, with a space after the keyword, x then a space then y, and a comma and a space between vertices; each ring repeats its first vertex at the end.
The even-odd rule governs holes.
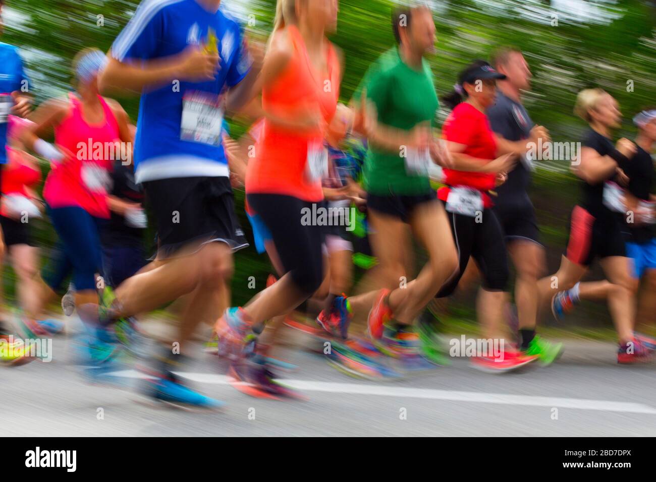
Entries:
POLYGON ((220 57, 215 80, 176 80, 142 92, 134 141, 138 182, 229 175, 219 96, 246 76, 251 58, 237 21, 222 10, 205 10, 196 0, 144 0, 114 41, 116 60, 139 62, 179 54, 189 45, 208 45, 213 38, 220 57))

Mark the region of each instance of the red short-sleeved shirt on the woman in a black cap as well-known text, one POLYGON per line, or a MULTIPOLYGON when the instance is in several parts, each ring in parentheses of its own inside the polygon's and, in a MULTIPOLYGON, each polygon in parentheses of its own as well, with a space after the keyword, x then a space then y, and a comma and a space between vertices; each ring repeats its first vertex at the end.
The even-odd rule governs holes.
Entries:
MULTIPOLYGON (((478 159, 489 159, 497 157, 497 140, 490 127, 487 115, 476 109, 472 104, 462 102, 458 104, 447 120, 444 121, 442 135, 446 140, 464 144, 466 148, 462 153, 478 159)), ((495 187, 495 174, 483 172, 457 171, 455 169, 443 169, 444 183, 448 186, 470 186, 482 192, 495 187)), ((449 188, 440 188, 438 197, 446 201, 449 188)), ((492 201, 489 195, 483 195, 485 207, 491 207, 492 201)))

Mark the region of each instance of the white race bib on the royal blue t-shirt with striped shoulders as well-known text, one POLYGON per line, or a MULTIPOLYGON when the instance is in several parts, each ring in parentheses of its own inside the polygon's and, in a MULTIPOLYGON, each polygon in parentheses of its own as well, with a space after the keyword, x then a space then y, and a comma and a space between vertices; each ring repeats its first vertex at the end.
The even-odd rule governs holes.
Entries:
POLYGON ((180 140, 219 146, 223 115, 218 96, 203 94, 203 92, 185 93, 182 99, 180 140))

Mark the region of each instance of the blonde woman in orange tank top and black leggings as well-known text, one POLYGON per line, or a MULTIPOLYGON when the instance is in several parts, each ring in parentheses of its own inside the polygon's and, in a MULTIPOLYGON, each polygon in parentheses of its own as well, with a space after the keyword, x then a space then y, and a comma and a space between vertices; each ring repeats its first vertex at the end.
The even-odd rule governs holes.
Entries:
POLYGON ((234 378, 289 395, 272 382, 262 357, 243 355, 243 339, 251 327, 288 313, 321 285, 323 226, 316 216, 325 209, 323 139, 337 109, 342 69, 336 47, 325 38, 337 22, 337 0, 279 0, 279 10, 287 25, 274 31, 264 58, 264 126, 245 187, 249 209, 271 232, 285 275, 243 308, 226 310, 216 332, 219 353, 235 362, 234 378))

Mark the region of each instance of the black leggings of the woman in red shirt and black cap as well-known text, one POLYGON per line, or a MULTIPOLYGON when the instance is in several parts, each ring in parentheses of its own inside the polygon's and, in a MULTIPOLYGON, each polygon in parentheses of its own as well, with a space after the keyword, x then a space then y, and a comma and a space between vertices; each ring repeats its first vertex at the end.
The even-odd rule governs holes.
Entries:
POLYGON ((460 271, 449 279, 436 294, 443 298, 452 294, 472 256, 483 278, 483 288, 490 291, 506 291, 508 285, 508 257, 501 224, 492 209, 485 209, 481 222, 476 218, 447 212, 453 240, 458 249, 460 271))

